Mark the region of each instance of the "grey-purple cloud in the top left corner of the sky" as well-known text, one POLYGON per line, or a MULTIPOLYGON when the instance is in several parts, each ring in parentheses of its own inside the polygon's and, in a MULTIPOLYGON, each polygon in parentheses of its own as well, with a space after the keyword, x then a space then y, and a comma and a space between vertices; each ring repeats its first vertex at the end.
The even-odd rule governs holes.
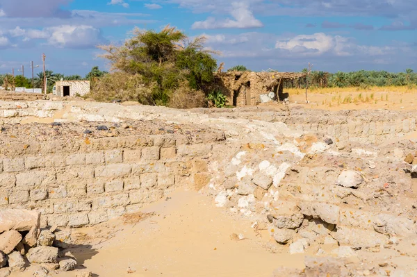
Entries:
POLYGON ((70 17, 61 7, 72 0, 0 0, 1 12, 7 17, 70 17))

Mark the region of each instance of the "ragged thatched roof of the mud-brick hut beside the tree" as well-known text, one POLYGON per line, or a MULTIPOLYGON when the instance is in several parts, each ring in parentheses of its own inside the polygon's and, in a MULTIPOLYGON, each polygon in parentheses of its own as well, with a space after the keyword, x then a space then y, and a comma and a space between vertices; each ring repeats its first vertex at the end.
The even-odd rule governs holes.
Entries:
POLYGON ((238 90, 248 82, 262 83, 263 87, 270 90, 284 80, 303 78, 306 74, 301 72, 220 72, 215 76, 232 90, 238 90))

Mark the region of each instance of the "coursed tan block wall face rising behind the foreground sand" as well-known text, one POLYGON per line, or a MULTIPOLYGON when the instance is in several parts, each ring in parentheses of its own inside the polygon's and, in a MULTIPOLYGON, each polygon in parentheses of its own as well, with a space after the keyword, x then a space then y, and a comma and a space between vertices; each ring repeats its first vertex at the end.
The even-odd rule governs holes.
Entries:
POLYGON ((156 135, 0 146, 0 209, 42 212, 42 226, 98 224, 210 179, 212 144, 156 135))

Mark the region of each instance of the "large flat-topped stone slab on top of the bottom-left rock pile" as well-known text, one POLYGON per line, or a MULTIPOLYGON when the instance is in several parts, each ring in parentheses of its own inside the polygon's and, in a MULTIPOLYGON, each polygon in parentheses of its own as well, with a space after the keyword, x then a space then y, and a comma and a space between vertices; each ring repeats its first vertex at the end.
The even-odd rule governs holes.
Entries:
POLYGON ((0 210, 0 233, 8 230, 28 231, 40 226, 40 212, 35 210, 0 210))

